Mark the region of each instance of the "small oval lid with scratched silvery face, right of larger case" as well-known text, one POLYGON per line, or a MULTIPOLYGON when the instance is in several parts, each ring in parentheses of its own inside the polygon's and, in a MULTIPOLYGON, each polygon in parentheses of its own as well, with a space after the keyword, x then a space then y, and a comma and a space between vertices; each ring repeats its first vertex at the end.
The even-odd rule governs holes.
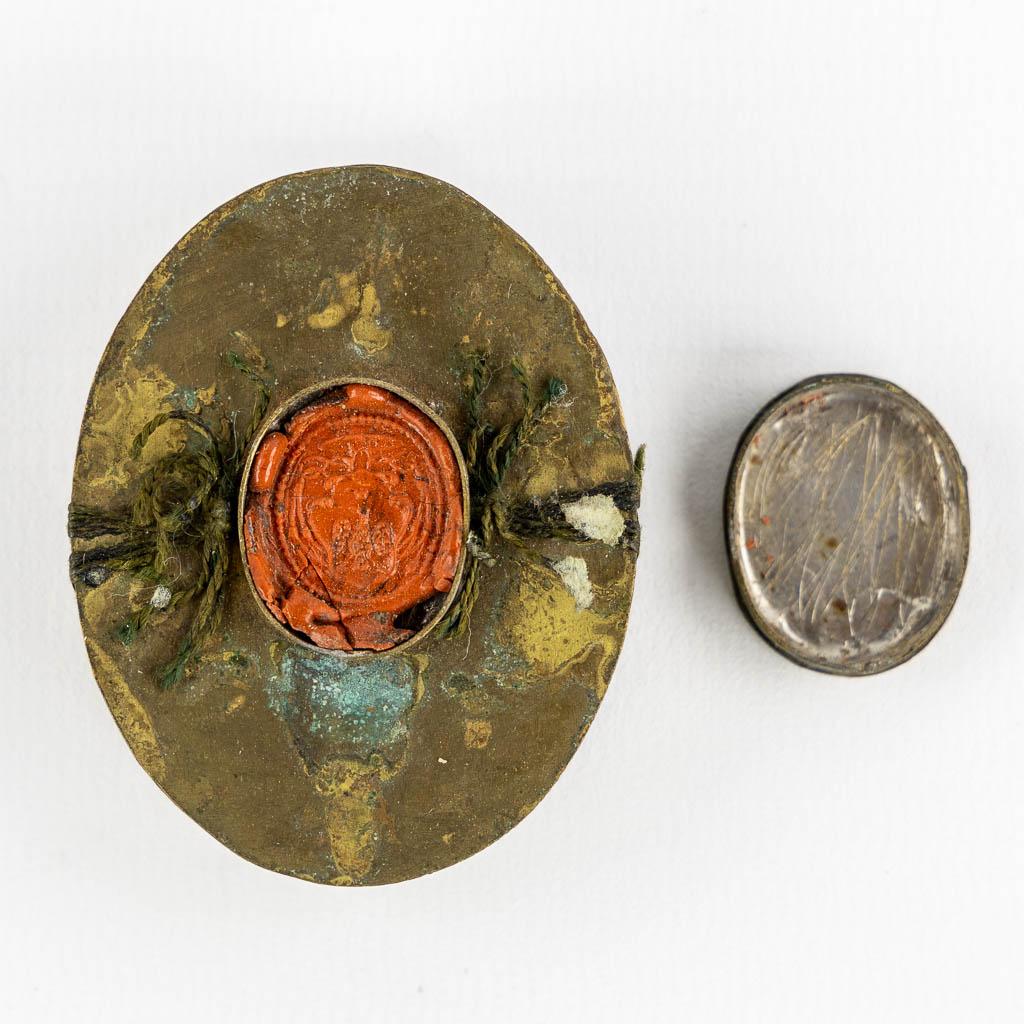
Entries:
POLYGON ((967 567, 967 474, 938 421, 886 381, 815 377, 736 451, 726 539, 736 591, 779 651, 883 672, 945 622, 967 567))

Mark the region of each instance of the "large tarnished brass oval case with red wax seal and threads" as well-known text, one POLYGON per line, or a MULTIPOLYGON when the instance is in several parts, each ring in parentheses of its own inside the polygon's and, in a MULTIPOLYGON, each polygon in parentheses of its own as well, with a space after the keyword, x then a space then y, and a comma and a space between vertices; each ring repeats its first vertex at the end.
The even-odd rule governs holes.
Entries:
POLYGON ((394 168, 279 178, 171 249, 100 360, 69 514, 96 681, 254 863, 436 870, 528 814, 593 721, 639 484, 597 342, 506 224, 394 168), (371 426, 389 394, 408 409, 371 426), (311 400, 339 404, 297 441, 311 400))

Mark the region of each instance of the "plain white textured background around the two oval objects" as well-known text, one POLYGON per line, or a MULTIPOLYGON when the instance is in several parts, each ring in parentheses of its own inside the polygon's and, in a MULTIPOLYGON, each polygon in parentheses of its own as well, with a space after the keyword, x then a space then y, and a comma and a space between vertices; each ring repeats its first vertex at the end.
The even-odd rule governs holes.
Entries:
POLYGON ((11 1021, 1024 1019, 1024 12, 1016 2, 362 0, 6 8, 0 1008, 11 1021), (197 220, 379 162, 527 239, 648 443, 626 648, 583 749, 470 860, 332 890, 135 764, 67 580, 80 417, 197 220), (730 591, 739 432, 892 379, 970 471, 919 657, 799 669, 730 591))

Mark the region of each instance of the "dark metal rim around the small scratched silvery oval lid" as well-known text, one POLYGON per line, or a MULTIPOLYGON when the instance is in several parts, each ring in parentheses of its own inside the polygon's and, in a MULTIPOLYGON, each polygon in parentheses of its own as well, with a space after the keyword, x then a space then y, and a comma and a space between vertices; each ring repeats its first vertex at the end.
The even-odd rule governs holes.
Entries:
POLYGON ((891 381, 878 377, 871 377, 866 374, 829 373, 813 375, 811 377, 804 378, 792 387, 788 387, 784 391, 777 394, 770 401, 766 402, 758 411, 750 425, 743 430, 740 435, 739 442, 736 445, 736 450, 733 454, 732 462, 729 467, 723 511, 729 569, 732 575, 736 597, 744 615, 755 627, 762 639, 764 639, 775 651, 803 668, 811 669, 812 671, 820 672, 825 675, 877 675, 882 672, 888 672, 890 669, 894 669, 897 666, 904 664, 915 654, 920 653, 932 641, 948 618, 949 613, 956 602, 956 598, 959 595, 961 586, 967 571, 971 536, 970 503, 968 499, 967 470, 961 461, 956 446, 953 444, 952 439, 946 433, 942 424, 939 423, 929 409, 919 401, 913 395, 898 385, 893 384, 891 381), (792 403, 793 400, 801 393, 835 384, 849 384, 876 389, 880 392, 888 392, 910 406, 928 425, 929 429, 940 443, 944 454, 948 458, 949 466, 955 476, 955 489, 958 496, 957 505, 961 528, 957 540, 961 545, 963 555, 959 560, 958 571, 955 579, 951 581, 950 586, 947 588, 945 599, 943 600, 938 613, 933 616, 933 620, 916 637, 913 638, 912 641, 905 645, 905 647, 899 652, 898 656, 889 658, 880 656, 874 660, 860 665, 823 664, 820 659, 815 659, 803 653, 797 646, 787 644, 784 637, 780 635, 777 630, 772 628, 771 624, 769 624, 758 610, 757 604, 753 600, 750 593, 746 574, 742 568, 741 552, 737 544, 738 538, 735 526, 735 517, 737 514, 737 484, 743 469, 744 457, 746 456, 755 437, 762 432, 765 424, 767 424, 783 407, 792 403))

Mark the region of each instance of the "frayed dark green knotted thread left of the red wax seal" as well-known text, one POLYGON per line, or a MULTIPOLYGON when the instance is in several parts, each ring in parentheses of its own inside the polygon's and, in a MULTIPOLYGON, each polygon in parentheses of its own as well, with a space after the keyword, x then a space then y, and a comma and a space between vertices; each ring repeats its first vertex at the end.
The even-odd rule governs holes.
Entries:
MULTIPOLYGON (((132 458, 142 455, 150 439, 165 424, 181 425, 185 444, 178 452, 162 456, 143 473, 131 509, 111 512, 72 505, 68 513, 72 540, 111 538, 85 551, 73 551, 71 573, 76 582, 102 582, 111 571, 128 570, 147 583, 166 584, 170 564, 178 560, 177 549, 200 545, 196 579, 188 588, 173 591, 164 609, 196 605, 177 653, 160 670, 164 689, 180 680, 220 622, 238 474, 270 400, 266 382, 241 355, 231 351, 227 360, 257 386, 252 419, 244 435, 239 435, 233 420, 228 437, 220 440, 193 413, 160 413, 135 436, 130 449, 132 458)), ((134 611, 117 629, 118 638, 125 644, 132 643, 154 610, 147 603, 134 611)))

